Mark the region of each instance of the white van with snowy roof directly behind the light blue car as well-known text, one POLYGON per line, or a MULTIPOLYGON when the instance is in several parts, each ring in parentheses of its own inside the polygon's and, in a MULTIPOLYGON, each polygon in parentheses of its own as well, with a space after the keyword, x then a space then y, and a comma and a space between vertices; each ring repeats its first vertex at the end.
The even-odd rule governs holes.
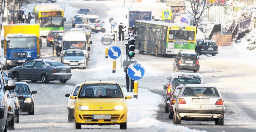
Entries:
POLYGON ((62 47, 61 47, 61 58, 63 54, 66 52, 68 49, 81 49, 84 52, 84 56, 86 57, 88 61, 88 51, 90 51, 90 47, 88 47, 87 44, 87 39, 86 35, 82 32, 67 32, 64 33, 62 36, 62 47), (82 43, 83 46, 78 46, 79 43, 82 43), (72 44, 75 44, 73 46, 72 44))

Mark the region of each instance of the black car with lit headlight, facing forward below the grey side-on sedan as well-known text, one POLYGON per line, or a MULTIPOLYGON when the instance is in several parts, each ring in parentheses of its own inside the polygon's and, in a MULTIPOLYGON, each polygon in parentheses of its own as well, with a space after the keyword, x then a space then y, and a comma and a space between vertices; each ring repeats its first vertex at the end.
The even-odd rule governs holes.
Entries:
POLYGON ((20 102, 20 113, 26 112, 29 115, 35 114, 34 95, 37 91, 31 91, 26 82, 15 82, 15 91, 20 102))

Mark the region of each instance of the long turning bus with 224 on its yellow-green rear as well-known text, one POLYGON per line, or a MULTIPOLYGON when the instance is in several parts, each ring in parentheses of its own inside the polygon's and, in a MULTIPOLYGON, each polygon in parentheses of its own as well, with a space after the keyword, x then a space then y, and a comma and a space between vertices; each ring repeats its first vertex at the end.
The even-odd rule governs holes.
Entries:
POLYGON ((139 53, 176 56, 180 51, 195 52, 196 27, 161 21, 136 20, 135 46, 139 53))

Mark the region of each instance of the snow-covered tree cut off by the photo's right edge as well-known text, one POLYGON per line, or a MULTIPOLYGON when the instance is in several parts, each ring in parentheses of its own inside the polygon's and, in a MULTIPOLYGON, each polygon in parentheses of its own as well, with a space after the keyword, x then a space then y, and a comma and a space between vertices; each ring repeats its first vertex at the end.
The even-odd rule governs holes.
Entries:
POLYGON ((250 32, 246 34, 246 40, 249 43, 247 49, 254 50, 256 48, 256 12, 252 12, 251 24, 248 29, 250 32))

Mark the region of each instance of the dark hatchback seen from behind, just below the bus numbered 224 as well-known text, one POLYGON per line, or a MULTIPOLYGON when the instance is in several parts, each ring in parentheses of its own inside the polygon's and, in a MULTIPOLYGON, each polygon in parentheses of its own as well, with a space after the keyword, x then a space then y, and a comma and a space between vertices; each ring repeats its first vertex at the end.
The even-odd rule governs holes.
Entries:
POLYGON ((179 52, 173 62, 173 71, 193 70, 199 73, 199 60, 196 52, 179 52))

